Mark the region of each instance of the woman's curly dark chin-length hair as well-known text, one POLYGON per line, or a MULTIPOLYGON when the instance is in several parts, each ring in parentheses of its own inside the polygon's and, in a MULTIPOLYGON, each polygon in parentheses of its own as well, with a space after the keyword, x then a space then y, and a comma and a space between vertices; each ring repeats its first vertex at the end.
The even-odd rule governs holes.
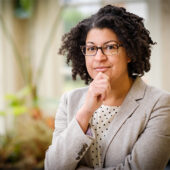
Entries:
POLYGON ((80 49, 81 45, 85 45, 87 34, 92 28, 109 28, 116 33, 131 59, 128 64, 130 77, 141 77, 144 72, 150 70, 151 45, 155 43, 149 35, 150 32, 144 27, 143 18, 127 12, 123 7, 107 5, 79 22, 62 38, 63 44, 59 54, 67 56, 67 64, 71 62, 73 80, 76 80, 77 75, 85 81, 85 84, 92 80, 80 49))

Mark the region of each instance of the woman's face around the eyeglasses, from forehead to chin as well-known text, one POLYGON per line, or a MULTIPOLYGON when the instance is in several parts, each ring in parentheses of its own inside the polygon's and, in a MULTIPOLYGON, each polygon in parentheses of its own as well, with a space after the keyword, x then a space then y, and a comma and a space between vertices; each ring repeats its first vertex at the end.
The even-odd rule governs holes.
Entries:
MULTIPOLYGON (((116 34, 108 28, 93 28, 86 38, 86 45, 101 47, 107 42, 117 42, 120 44, 116 34)), ((110 44, 110 43, 108 43, 110 44)), ((105 55, 101 49, 98 49, 95 56, 85 56, 87 71, 92 79, 99 72, 107 74, 110 80, 123 80, 128 77, 127 64, 130 59, 126 55, 123 47, 119 47, 116 54, 105 55)))

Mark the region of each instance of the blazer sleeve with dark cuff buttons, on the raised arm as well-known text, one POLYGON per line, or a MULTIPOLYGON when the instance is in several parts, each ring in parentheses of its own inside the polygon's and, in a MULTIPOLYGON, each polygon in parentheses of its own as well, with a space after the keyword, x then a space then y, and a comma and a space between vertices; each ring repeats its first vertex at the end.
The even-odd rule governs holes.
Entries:
POLYGON ((75 117, 68 122, 67 105, 64 94, 55 117, 52 144, 45 155, 45 170, 74 170, 93 141, 84 134, 75 117))

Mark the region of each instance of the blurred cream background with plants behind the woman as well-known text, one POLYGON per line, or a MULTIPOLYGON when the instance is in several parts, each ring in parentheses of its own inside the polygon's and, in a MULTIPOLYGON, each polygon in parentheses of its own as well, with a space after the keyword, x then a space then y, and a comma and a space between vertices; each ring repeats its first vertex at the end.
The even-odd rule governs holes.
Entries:
POLYGON ((43 167, 59 98, 84 86, 58 55, 62 35, 106 4, 144 18, 157 44, 143 79, 170 92, 170 0, 0 0, 0 168, 43 167))

